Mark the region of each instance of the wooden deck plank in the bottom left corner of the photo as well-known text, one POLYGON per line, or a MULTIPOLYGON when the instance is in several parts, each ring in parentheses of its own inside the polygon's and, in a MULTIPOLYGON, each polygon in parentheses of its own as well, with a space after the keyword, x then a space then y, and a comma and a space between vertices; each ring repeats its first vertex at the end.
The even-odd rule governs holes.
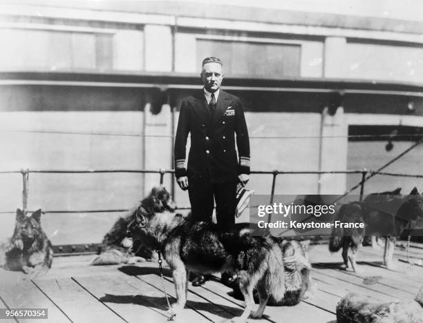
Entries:
MULTIPOLYGON (((10 309, 48 309, 48 322, 71 322, 30 280, 3 283, 0 297, 10 309)), ((19 322, 33 322, 32 319, 19 322)))

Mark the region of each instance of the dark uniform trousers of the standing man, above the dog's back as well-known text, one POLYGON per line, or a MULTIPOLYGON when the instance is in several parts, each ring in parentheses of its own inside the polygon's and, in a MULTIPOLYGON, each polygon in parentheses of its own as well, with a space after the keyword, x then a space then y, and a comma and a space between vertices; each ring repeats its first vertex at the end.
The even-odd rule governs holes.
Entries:
POLYGON ((189 202, 195 221, 212 222, 214 199, 216 219, 221 228, 232 228, 235 224, 236 182, 211 183, 208 178, 190 178, 188 181, 189 202))

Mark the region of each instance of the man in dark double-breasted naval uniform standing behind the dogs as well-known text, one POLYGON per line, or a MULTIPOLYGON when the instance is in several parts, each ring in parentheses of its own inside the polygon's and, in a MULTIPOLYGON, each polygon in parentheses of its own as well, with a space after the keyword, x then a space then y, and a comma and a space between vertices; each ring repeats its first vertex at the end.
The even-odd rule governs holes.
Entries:
POLYGON ((220 59, 204 59, 200 77, 204 88, 180 106, 174 154, 176 180, 182 190, 188 189, 196 221, 212 222, 215 199, 217 224, 229 229, 235 224, 236 185, 249 180, 250 139, 241 100, 220 90, 220 59), (185 168, 189 133, 191 148, 185 168))

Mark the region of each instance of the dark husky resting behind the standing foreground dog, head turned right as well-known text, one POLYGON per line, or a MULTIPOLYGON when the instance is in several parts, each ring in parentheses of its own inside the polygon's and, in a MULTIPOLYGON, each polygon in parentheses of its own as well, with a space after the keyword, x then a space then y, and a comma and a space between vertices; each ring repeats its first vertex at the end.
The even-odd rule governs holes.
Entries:
MULTIPOLYGON (((164 186, 156 186, 151 189, 149 196, 142 199, 140 202, 149 212, 162 212, 164 210, 175 211, 176 204, 173 202, 171 194, 164 188, 164 186)), ((120 217, 115 222, 111 230, 104 235, 102 245, 100 246, 97 257, 91 263, 92 265, 108 265, 108 264, 135 264, 135 262, 142 262, 145 258, 153 257, 151 249, 145 248, 139 242, 135 242, 133 248, 124 248, 120 242, 126 236, 126 230, 129 223, 135 217, 135 211, 138 208, 133 208, 124 217, 120 217), (135 251, 135 253, 132 252, 135 251)))

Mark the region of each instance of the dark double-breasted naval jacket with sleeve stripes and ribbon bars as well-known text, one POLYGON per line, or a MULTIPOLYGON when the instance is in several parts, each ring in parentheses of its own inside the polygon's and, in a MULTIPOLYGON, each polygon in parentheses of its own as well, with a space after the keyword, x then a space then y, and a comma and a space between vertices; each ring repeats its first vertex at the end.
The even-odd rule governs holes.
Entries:
POLYGON ((203 90, 184 99, 174 156, 176 177, 188 176, 189 181, 203 178, 211 183, 237 182, 238 175, 250 174, 250 140, 241 100, 220 90, 216 108, 211 112, 203 90), (189 133, 191 148, 185 168, 189 133))

